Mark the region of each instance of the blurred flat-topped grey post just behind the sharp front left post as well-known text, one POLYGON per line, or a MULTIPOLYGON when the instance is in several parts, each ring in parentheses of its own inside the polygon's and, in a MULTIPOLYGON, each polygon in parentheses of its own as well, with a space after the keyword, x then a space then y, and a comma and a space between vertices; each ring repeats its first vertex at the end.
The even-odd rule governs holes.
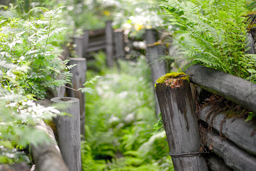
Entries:
MULTIPOLYGON (((86 77, 86 59, 85 58, 73 58, 70 57, 68 65, 74 65, 77 64, 77 66, 70 69, 70 72, 73 74, 73 78, 71 80, 72 85, 69 85, 69 87, 72 87, 73 89, 79 89, 83 87, 83 84, 85 83, 85 77, 86 77)), ((81 91, 73 91, 71 89, 67 89, 67 96, 68 97, 74 97, 79 99, 80 102, 80 131, 81 135, 85 137, 85 94, 81 91)), ((84 139, 82 137, 82 139, 84 139)))

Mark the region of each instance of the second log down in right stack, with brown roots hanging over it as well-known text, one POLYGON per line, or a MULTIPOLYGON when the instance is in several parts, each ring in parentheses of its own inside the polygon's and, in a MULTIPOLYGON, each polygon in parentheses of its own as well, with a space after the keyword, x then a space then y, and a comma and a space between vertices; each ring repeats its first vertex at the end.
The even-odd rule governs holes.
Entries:
MULTIPOLYGON (((199 112, 199 118, 206 122, 207 113, 211 110, 211 105, 203 108, 199 112)), ((225 118, 225 114, 215 115, 213 118, 212 127, 220 131, 221 123, 225 118)), ((210 124, 212 116, 207 119, 210 124)), ((246 151, 256 155, 256 122, 245 122, 245 119, 240 118, 226 118, 222 123, 222 134, 228 139, 232 140, 236 145, 244 148, 246 151)))

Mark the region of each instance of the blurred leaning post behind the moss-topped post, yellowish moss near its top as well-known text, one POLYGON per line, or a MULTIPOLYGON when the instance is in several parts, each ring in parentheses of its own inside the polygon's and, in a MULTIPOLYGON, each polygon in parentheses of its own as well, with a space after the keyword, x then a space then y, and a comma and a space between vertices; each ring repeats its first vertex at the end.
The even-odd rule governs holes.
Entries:
MULTIPOLYGON (((166 63, 164 60, 160 60, 160 57, 165 55, 165 49, 161 45, 152 46, 157 42, 157 32, 153 29, 146 30, 146 58, 151 68, 152 82, 155 84, 159 77, 166 74, 166 63)), ((155 108, 156 116, 160 113, 158 98, 155 91, 155 108)))

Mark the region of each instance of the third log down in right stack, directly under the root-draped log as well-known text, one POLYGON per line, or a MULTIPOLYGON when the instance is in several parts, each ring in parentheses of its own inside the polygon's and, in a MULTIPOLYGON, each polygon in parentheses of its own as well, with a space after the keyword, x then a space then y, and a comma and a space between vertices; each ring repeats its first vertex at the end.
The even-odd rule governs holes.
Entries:
POLYGON ((255 171, 256 156, 236 146, 232 141, 221 139, 214 131, 208 132, 206 142, 209 149, 218 154, 234 171, 255 171))

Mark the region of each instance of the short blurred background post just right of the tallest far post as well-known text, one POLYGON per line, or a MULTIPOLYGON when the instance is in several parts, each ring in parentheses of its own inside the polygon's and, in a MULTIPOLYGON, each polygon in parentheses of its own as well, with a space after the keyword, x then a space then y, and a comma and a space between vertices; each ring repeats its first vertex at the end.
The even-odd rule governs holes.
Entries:
POLYGON ((125 59, 124 39, 122 32, 115 32, 115 49, 116 57, 120 59, 125 59))

